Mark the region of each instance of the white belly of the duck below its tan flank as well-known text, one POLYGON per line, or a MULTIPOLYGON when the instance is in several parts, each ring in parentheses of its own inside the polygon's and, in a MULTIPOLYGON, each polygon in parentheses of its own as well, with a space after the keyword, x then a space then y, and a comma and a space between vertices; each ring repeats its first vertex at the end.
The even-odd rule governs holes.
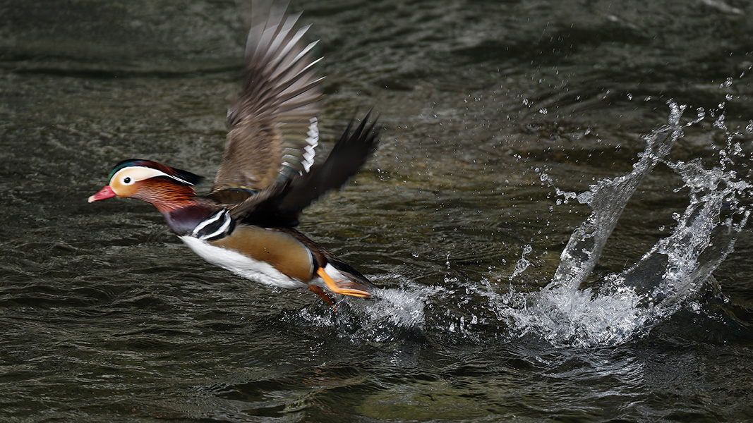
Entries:
POLYGON ((193 236, 181 236, 180 239, 204 260, 230 270, 242 278, 279 288, 306 288, 307 286, 302 281, 288 278, 269 263, 254 260, 233 250, 209 245, 208 242, 193 236))

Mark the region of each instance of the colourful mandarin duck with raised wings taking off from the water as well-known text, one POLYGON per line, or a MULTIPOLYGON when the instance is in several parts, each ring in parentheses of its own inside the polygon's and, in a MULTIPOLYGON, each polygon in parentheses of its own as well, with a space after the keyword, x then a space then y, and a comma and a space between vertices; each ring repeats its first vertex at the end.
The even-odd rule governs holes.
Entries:
POLYGON ((286 6, 252 5, 242 92, 227 109, 224 157, 211 190, 204 178, 152 160, 120 161, 88 198, 151 203, 194 253, 230 272, 279 288, 309 288, 335 309, 333 295, 369 298, 376 288, 358 270, 295 228, 312 202, 346 184, 376 150, 372 111, 352 119, 317 162, 322 95, 309 26, 286 6), (255 10, 256 9, 256 10, 255 10), (259 11, 261 9, 261 12, 259 11), (325 291, 326 290, 326 291, 325 291))

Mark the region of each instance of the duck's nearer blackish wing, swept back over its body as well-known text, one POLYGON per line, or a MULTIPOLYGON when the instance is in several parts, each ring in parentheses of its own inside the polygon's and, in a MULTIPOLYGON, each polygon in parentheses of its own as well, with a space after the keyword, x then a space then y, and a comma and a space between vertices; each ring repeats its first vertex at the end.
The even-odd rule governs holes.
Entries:
POLYGON ((250 224, 294 224, 298 212, 330 190, 342 187, 376 150, 381 129, 377 120, 370 120, 367 114, 355 129, 354 123, 349 123, 323 163, 285 184, 274 184, 248 197, 231 208, 230 215, 250 224))

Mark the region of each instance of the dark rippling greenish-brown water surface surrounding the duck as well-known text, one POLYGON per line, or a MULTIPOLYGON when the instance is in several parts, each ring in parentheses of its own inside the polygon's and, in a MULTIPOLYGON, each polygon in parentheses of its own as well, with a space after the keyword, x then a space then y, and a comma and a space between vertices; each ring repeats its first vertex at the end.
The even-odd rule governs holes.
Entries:
POLYGON ((325 138, 386 125, 300 227, 384 287, 337 313, 204 263, 150 205, 86 202, 129 157, 213 175, 233 2, 0 1, 0 420, 751 420, 750 2, 291 8, 325 138), (634 191, 589 191, 641 157, 634 191), (593 271, 555 278, 620 199, 581 239, 614 225, 603 251, 568 247, 593 271))

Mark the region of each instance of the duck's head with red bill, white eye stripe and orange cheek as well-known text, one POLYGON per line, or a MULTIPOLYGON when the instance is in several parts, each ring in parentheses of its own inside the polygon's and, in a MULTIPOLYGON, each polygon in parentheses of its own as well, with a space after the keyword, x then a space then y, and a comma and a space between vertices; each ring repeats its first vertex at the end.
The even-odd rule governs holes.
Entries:
POLYGON ((195 195, 194 185, 203 177, 151 160, 129 159, 117 163, 110 181, 89 202, 114 196, 141 199, 157 207, 160 204, 188 199, 195 195))

